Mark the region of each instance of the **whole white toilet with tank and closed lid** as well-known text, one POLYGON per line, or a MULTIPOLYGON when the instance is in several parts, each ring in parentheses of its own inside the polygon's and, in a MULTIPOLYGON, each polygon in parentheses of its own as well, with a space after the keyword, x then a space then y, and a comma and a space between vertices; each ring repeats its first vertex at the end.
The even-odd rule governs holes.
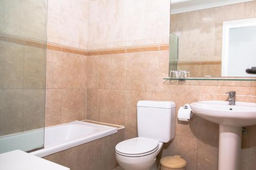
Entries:
POLYGON ((156 156, 174 138, 174 102, 139 101, 137 103, 138 137, 116 145, 116 159, 125 170, 156 170, 156 156))

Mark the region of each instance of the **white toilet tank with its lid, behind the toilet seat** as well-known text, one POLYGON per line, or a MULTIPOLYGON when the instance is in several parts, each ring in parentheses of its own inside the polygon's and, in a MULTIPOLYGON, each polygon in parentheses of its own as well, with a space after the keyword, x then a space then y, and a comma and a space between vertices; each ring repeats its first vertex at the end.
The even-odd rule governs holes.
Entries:
POLYGON ((168 142, 175 132, 174 102, 139 101, 137 103, 138 136, 168 142))

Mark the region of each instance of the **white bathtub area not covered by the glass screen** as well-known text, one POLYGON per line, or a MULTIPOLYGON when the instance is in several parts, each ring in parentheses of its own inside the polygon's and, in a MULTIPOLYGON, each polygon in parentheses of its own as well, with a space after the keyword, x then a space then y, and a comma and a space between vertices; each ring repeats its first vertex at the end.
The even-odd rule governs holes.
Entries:
POLYGON ((80 121, 48 127, 45 147, 30 154, 44 157, 114 133, 117 128, 80 121))

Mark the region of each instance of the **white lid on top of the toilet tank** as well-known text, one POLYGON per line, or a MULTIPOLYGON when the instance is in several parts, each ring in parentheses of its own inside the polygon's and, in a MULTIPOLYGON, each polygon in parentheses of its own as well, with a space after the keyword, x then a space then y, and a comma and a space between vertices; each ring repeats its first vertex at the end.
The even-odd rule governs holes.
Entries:
POLYGON ((152 107, 152 108, 175 108, 175 103, 170 101, 138 101, 137 107, 152 107))

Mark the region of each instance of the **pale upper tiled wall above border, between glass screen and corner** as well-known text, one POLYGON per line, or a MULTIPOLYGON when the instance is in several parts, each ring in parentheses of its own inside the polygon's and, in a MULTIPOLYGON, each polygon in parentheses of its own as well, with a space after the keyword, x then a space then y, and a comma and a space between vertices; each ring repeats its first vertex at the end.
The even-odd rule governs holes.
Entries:
POLYGON ((87 50, 89 0, 48 0, 47 41, 87 50))

